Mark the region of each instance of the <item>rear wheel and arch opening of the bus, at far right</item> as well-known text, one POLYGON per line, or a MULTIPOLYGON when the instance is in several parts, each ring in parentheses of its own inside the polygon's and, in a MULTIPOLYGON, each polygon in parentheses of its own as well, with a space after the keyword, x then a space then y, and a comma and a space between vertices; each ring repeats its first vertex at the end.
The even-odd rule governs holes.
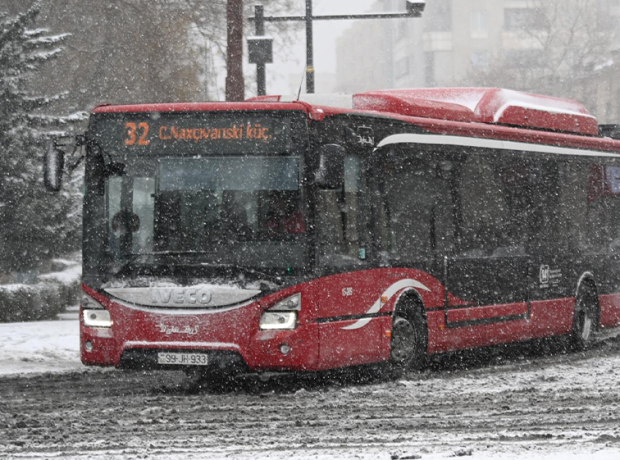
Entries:
POLYGON ((571 345, 576 351, 582 351, 592 345, 594 333, 600 322, 600 303, 594 276, 584 273, 577 284, 573 329, 570 334, 571 345))

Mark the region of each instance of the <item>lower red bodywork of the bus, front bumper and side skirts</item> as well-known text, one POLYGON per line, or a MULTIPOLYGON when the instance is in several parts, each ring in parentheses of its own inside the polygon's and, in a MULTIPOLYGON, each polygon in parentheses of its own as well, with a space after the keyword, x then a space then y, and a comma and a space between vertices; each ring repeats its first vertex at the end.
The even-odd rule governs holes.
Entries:
MULTIPOLYGON (((572 330, 575 303, 574 298, 536 301, 531 303, 529 318, 450 327, 450 323, 457 321, 525 316, 527 305, 465 306, 462 310, 445 310, 442 308, 444 287, 437 279, 417 270, 391 268, 328 276, 284 289, 239 308, 182 315, 174 311, 149 312, 128 307, 88 286, 83 286, 83 290, 101 302, 114 321, 111 329, 81 325, 84 364, 119 366, 122 353, 136 348, 228 350, 238 352, 252 370, 316 371, 388 360, 392 327, 390 313, 398 298, 409 290, 415 290, 425 306, 429 353, 568 334, 572 330), (384 298, 390 286, 403 280, 418 281, 428 291, 404 288, 384 298), (343 289, 349 288, 352 288, 353 295, 343 296, 343 289), (302 294, 298 327, 290 331, 260 330, 261 313, 297 292, 302 294), (373 317, 362 327, 350 329, 375 301, 382 301, 378 313, 384 315, 373 317), (180 339, 166 332, 175 327, 177 330, 197 328, 198 332, 190 338, 180 339), (93 352, 84 350, 86 341, 93 343, 93 352), (287 355, 280 352, 283 344, 291 349, 287 355)), ((614 327, 618 324, 620 296, 601 296, 601 325, 614 327)))

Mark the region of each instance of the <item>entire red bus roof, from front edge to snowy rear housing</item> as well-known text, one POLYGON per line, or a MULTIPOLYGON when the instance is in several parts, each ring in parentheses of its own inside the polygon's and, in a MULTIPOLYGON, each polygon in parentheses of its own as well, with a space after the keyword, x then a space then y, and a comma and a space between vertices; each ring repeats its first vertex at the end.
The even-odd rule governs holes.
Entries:
POLYGON ((579 102, 501 88, 419 88, 359 94, 258 96, 244 102, 101 105, 93 113, 296 110, 313 120, 342 113, 368 113, 481 123, 599 137, 597 119, 579 102))

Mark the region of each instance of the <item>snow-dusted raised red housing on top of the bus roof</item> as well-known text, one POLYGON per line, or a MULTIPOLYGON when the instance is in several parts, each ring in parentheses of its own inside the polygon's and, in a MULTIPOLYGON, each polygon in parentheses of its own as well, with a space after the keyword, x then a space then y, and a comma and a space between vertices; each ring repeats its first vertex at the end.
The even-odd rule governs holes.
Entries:
POLYGON ((598 136, 598 121, 579 102, 502 88, 416 88, 354 95, 260 96, 262 102, 300 100, 312 105, 395 113, 598 136))

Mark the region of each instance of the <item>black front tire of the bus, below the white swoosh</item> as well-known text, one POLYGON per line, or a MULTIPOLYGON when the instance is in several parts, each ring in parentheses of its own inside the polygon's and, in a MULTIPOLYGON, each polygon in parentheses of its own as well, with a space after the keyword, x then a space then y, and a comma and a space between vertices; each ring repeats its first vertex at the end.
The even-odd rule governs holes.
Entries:
POLYGON ((419 307, 396 311, 392 319, 390 363, 396 374, 420 369, 426 358, 426 321, 419 307))

